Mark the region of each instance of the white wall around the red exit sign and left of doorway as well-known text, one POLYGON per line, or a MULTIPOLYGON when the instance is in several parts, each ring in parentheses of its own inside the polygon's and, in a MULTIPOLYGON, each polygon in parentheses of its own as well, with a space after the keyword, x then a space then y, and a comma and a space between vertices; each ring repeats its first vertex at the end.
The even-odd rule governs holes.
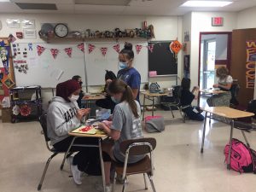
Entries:
POLYGON ((236 13, 192 12, 191 14, 191 84, 198 84, 200 32, 232 32, 236 28, 236 13), (224 26, 212 26, 212 17, 224 17, 224 26))

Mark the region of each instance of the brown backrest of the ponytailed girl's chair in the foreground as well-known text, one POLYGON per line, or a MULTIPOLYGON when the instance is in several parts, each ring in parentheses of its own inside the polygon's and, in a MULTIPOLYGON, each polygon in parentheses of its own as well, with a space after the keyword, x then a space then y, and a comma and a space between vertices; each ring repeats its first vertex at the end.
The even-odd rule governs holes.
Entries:
POLYGON ((151 153, 156 147, 156 140, 152 137, 130 139, 120 143, 120 151, 129 155, 140 155, 151 153))

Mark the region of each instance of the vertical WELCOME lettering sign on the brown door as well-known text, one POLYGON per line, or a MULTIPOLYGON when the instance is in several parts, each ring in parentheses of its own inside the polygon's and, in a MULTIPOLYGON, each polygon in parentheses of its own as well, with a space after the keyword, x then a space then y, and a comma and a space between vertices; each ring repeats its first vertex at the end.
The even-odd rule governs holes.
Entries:
POLYGON ((254 89, 256 65, 256 41, 247 41, 246 83, 247 89, 254 89))

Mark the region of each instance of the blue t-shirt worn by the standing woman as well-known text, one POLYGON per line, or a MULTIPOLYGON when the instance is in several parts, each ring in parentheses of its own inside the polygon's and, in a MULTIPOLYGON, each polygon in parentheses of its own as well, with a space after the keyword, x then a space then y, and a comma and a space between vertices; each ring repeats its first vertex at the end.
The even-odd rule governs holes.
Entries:
POLYGON ((141 86, 141 75, 133 67, 129 69, 121 69, 117 75, 118 79, 125 81, 131 89, 138 89, 138 94, 136 97, 137 102, 140 102, 140 86, 141 86))

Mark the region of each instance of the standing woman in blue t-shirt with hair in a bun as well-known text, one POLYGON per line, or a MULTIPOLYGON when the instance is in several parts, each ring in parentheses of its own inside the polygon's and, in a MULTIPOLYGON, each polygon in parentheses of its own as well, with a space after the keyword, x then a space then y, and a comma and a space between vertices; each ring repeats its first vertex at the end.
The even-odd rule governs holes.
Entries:
POLYGON ((133 99, 139 101, 141 75, 138 71, 132 67, 134 60, 134 52, 132 50, 132 44, 125 43, 124 49, 119 53, 119 72, 118 79, 125 81, 131 87, 133 99))

